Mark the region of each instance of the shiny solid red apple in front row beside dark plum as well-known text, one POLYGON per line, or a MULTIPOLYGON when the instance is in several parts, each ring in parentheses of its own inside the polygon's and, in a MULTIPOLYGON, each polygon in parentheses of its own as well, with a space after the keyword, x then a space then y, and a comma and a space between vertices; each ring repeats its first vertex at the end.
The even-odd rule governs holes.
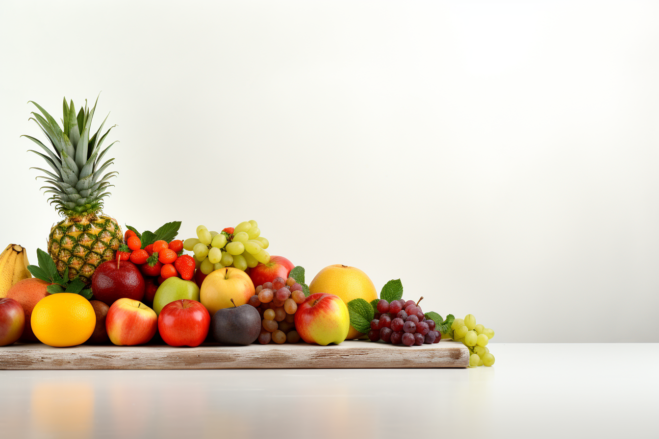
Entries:
POLYGON ((206 340, 209 327, 208 309, 196 300, 169 302, 158 316, 158 332, 169 346, 199 346, 206 340))

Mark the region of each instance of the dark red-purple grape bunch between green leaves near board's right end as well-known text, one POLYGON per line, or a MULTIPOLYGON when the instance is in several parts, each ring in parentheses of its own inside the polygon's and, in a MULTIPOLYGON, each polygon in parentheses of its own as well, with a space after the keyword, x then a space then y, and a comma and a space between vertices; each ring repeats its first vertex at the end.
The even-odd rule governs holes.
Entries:
POLYGON ((385 299, 380 299, 378 312, 371 321, 368 339, 372 342, 382 340, 391 344, 421 346, 439 343, 442 334, 435 330, 435 321, 426 319, 418 302, 401 299, 389 303, 385 299))

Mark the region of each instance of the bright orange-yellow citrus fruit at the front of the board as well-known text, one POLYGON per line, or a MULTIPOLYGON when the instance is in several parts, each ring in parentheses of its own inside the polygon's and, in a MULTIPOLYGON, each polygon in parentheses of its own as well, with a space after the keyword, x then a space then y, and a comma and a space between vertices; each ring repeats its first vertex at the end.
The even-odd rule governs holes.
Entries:
POLYGON ((87 341, 96 327, 96 312, 80 294, 43 297, 32 310, 32 330, 43 344, 63 348, 87 341))

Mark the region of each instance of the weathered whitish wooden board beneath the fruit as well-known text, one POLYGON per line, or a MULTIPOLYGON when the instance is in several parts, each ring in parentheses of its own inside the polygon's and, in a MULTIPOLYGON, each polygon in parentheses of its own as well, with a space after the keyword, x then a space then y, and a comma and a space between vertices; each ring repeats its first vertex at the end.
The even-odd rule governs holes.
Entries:
POLYGON ((393 346, 348 341, 333 346, 251 344, 197 348, 171 346, 91 346, 51 348, 14 344, 0 348, 0 369, 362 369, 467 367, 469 349, 442 341, 393 346))

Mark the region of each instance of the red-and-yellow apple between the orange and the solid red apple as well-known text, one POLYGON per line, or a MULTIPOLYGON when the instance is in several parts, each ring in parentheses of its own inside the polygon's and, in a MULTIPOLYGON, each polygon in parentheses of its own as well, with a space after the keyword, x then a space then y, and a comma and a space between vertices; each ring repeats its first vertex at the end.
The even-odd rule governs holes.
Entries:
POLYGON ((105 330, 117 346, 145 344, 156 335, 158 316, 144 303, 122 297, 107 311, 105 330))

